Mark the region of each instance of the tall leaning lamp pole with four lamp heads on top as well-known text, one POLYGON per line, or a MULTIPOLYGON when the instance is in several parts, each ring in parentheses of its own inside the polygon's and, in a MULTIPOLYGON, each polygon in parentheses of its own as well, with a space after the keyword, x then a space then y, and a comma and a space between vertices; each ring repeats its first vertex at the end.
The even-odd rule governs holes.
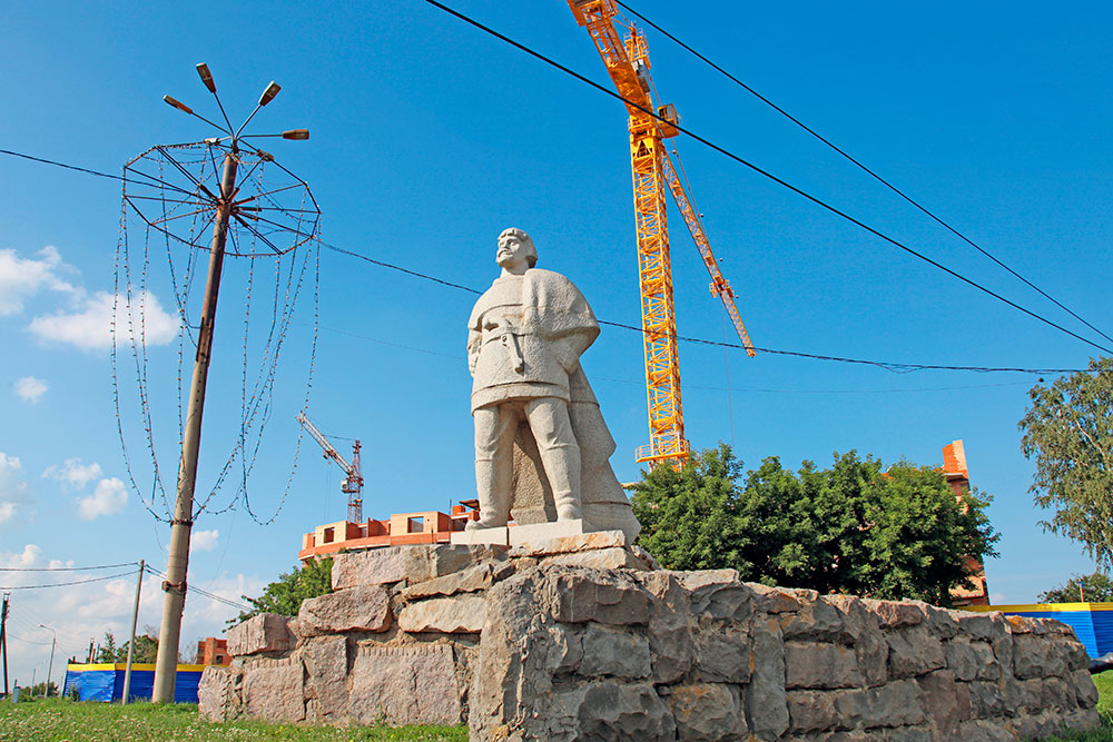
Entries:
MULTIPOLYGON (((174 506, 174 518, 170 521, 170 556, 166 566, 166 581, 162 591, 162 622, 158 633, 158 655, 155 662, 155 684, 151 701, 170 703, 174 701, 174 684, 178 672, 178 643, 181 632, 181 612, 186 602, 186 574, 189 567, 189 533, 193 528, 194 486, 197 482, 197 453, 201 439, 201 416, 205 410, 205 387, 208 383, 209 357, 213 352, 213 333, 216 326, 216 305, 220 293, 220 273, 224 267, 225 243, 228 236, 228 222, 232 219, 243 221, 238 212, 236 197, 236 170, 239 166, 239 137, 244 127, 255 118, 260 108, 274 100, 280 88, 274 81, 267 86, 259 98, 258 105, 239 129, 233 130, 224 105, 216 93, 216 82, 207 65, 198 65, 197 73, 201 82, 217 100, 217 106, 224 116, 228 128, 213 123, 194 112, 185 103, 164 96, 164 100, 179 111, 194 116, 206 123, 220 129, 227 135, 228 150, 224 156, 224 170, 220 178, 220 192, 214 196, 198 185, 198 189, 211 198, 215 208, 213 224, 213 244, 209 250, 208 280, 205 285, 205 299, 201 308, 200 328, 197 333, 197 356, 194 360, 194 375, 189 385, 189 406, 186 412, 186 425, 181 441, 181 461, 178 465, 178 495, 174 506)), ((294 129, 280 135, 284 139, 308 139, 306 129, 294 129)), ((217 144, 221 137, 211 140, 217 144)), ((206 140, 209 141, 209 140, 206 140)))

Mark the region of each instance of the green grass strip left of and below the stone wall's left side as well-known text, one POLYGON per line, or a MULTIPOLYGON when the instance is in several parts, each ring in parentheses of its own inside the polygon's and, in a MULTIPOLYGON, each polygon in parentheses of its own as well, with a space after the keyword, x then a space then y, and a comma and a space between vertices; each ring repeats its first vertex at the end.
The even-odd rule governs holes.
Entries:
POLYGON ((423 740, 463 742, 465 726, 299 726, 236 721, 213 724, 197 704, 155 705, 77 702, 61 699, 29 703, 0 701, 2 742, 184 742, 186 740, 293 740, 295 742, 377 742, 423 740))

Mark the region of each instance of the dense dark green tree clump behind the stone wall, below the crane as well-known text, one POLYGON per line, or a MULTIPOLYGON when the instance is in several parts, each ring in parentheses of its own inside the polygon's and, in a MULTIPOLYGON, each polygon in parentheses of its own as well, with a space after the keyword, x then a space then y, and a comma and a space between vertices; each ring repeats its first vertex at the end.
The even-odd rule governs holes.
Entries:
POLYGON ((634 486, 639 543, 669 568, 730 567, 743 580, 823 593, 949 604, 967 555, 993 555, 987 498, 959 504, 933 467, 836 455, 799 472, 776 457, 741 477, 730 447, 658 467, 634 486))

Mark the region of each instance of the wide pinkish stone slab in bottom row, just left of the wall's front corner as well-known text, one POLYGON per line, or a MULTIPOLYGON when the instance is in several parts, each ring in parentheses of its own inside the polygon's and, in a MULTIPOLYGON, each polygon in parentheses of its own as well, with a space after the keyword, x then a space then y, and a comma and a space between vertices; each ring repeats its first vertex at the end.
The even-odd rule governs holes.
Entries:
POLYGON ((452 647, 359 647, 348 715, 362 724, 459 724, 463 720, 452 647))

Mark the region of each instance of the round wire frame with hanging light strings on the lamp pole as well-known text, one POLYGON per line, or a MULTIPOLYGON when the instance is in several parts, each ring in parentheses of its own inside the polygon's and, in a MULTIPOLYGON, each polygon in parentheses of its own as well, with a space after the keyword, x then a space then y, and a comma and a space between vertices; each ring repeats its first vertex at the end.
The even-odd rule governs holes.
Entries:
MULTIPOLYGON (((150 347, 165 344, 166 314, 156 297, 166 291, 174 296, 174 319, 177 321, 174 329, 178 407, 176 443, 180 446, 185 431, 187 379, 184 372, 187 349, 197 349, 196 326, 190 319, 200 315, 197 296, 200 291, 194 290, 194 279, 201 263, 198 255, 210 250, 210 233, 219 202, 214 194, 220 192, 217 162, 229 151, 236 157, 243 175, 233 195, 225 254, 246 258, 247 261, 246 269, 239 271, 242 275, 236 268, 229 269, 230 264, 225 270, 226 283, 242 279, 244 284, 243 306, 238 308, 243 313, 238 418, 228 419, 225 415, 210 423, 210 426, 219 426, 223 431, 235 429, 236 435, 211 487, 203 498, 198 498, 190 517, 196 518, 203 512, 210 515, 224 513, 243 503, 257 523, 266 525, 274 522, 289 495, 301 452, 303 432, 298 428, 289 474, 285 477, 286 484, 274 514, 268 517, 257 515, 250 505, 248 481, 262 448, 264 429, 275 407, 280 376, 279 357, 287 345, 298 298, 311 271, 313 335, 305 369, 305 392, 298 395, 303 412, 308 408, 316 365, 321 211, 313 194, 304 180, 275 162, 269 154, 249 145, 240 144, 232 150, 227 145, 210 140, 152 147, 124 167, 120 234, 115 260, 111 370, 117 431, 128 479, 144 507, 162 522, 170 521, 171 512, 168 483, 159 465, 160 443, 166 446, 167 442, 165 433, 161 433, 164 439, 160 441, 160 432, 156 431, 154 421, 160 415, 158 408, 169 399, 152 390, 152 383, 158 386, 157 379, 161 378, 161 374, 151 373, 149 367, 151 363, 161 365, 170 359, 150 347), (141 250, 138 245, 130 244, 131 233, 140 227, 141 250), (165 274, 156 269, 161 260, 152 261, 152 240, 161 243, 165 249, 165 274), (264 278, 269 271, 262 268, 267 264, 273 264, 273 279, 264 278), (272 280, 273 291, 267 287, 272 280), (130 363, 120 358, 121 349, 131 356, 130 363), (134 364, 134 389, 130 384, 121 383, 120 363, 129 367, 134 364), (137 423, 150 455, 149 481, 140 474, 141 471, 137 471, 129 454, 128 433, 134 438, 137 423), (217 508, 214 498, 223 491, 234 467, 239 475, 236 477, 236 493, 217 508)), ((220 307, 223 328, 233 326, 236 311, 237 307, 226 300, 220 307)), ((227 388, 227 383, 225 386, 227 388)), ((216 415, 232 408, 220 405, 216 415)), ((176 485, 176 482, 169 484, 176 485)), ((198 486, 197 491, 200 492, 201 487, 198 486)))

